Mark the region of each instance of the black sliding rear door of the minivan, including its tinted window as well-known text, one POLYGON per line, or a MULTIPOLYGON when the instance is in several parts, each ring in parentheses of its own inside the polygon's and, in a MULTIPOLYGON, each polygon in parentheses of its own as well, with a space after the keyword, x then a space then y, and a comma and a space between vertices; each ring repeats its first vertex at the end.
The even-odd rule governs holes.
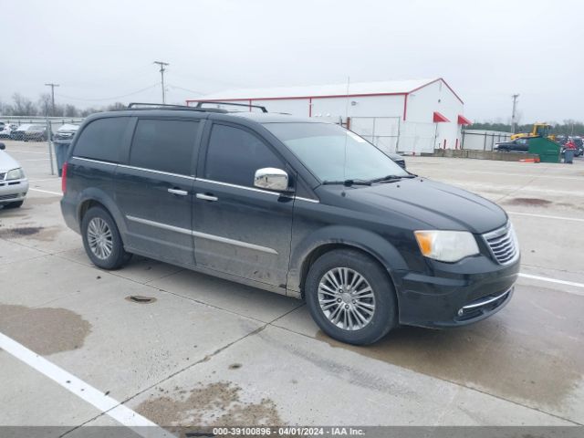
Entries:
POLYGON ((115 189, 130 252, 194 265, 191 167, 199 125, 196 120, 138 120, 115 189))

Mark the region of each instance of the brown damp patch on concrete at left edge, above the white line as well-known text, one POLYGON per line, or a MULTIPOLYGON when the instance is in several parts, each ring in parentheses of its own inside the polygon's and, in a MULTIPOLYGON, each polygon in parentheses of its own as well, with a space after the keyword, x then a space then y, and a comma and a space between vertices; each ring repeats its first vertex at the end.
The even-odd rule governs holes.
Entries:
POLYGON ((0 332, 46 356, 80 349, 91 332, 91 324, 67 308, 0 304, 0 332))

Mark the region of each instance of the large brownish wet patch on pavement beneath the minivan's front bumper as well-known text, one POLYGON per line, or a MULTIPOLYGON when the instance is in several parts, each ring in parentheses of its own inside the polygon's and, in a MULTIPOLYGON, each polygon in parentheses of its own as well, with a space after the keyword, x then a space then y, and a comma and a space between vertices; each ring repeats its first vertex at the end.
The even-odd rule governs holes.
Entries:
POLYGON ((355 347, 331 347, 464 384, 510 400, 558 407, 584 376, 584 297, 523 289, 495 316, 463 328, 402 327, 355 347))

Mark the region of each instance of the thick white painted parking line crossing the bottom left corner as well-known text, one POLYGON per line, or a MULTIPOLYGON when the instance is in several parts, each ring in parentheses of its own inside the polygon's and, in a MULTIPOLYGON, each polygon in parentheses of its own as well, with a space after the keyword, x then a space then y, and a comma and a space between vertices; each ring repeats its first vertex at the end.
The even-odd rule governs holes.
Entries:
POLYGON ((95 406, 100 412, 110 415, 115 421, 120 422, 141 436, 173 436, 162 429, 158 424, 142 417, 138 412, 132 411, 120 401, 116 401, 103 391, 93 388, 91 385, 75 377, 73 374, 49 362, 34 351, 27 349, 16 340, 8 338, 0 333, 0 349, 4 349, 18 360, 22 360, 31 368, 34 368, 52 381, 56 381, 66 390, 77 395, 83 401, 95 406), (148 427, 148 430, 145 429, 148 427))

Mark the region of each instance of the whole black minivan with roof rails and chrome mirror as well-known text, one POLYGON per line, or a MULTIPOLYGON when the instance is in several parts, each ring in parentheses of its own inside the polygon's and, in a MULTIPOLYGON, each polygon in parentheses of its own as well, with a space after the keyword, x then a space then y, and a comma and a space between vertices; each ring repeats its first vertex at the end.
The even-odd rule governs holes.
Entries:
POLYGON ((506 213, 406 172, 359 135, 289 115, 186 107, 90 116, 61 208, 91 261, 132 254, 305 299, 329 336, 487 318, 513 294, 506 213))

